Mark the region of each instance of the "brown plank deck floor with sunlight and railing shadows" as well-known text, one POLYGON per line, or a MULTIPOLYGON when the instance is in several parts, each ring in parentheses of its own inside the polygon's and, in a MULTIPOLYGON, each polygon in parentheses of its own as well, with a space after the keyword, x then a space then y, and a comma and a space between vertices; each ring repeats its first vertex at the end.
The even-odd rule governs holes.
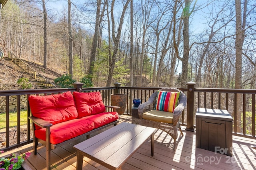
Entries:
MULTIPOLYGON (((122 121, 131 122, 128 115, 120 116, 122 121)), ((111 127, 109 127, 111 128, 111 127)), ((177 149, 173 150, 173 140, 165 132, 156 130, 154 135, 154 156, 151 156, 150 139, 146 141, 140 149, 122 166, 123 170, 256 170, 256 150, 251 149, 250 145, 255 144, 255 139, 247 139, 233 136, 233 156, 214 153, 208 150, 195 147, 196 133, 185 131, 183 137, 178 138, 177 149)), ((100 133, 100 132, 98 132, 100 133)), ((97 134, 98 134, 97 133, 97 134)), ((97 135, 96 133, 93 135, 97 135)), ((51 152, 52 169, 54 170, 75 170, 76 169, 76 150, 73 145, 84 141, 69 143, 51 152)), ((46 170, 46 148, 40 144, 38 154, 33 154, 33 145, 5 152, 25 153, 32 152, 26 164, 32 170, 46 170)), ((1 155, 2 156, 2 155, 1 155)), ((84 157, 83 170, 107 170, 104 166, 84 157)))

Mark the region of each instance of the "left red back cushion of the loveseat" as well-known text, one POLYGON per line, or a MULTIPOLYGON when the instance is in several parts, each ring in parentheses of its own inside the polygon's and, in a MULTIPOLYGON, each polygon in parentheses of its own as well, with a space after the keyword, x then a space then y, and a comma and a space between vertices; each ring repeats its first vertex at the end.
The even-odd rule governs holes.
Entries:
POLYGON ((78 117, 74 98, 70 91, 48 96, 29 96, 31 113, 52 124, 78 117))

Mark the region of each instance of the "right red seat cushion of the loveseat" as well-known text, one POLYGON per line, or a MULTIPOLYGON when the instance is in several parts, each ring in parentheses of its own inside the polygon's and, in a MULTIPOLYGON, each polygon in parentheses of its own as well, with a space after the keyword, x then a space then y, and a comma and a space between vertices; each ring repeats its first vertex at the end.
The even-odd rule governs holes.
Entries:
POLYGON ((86 119, 94 122, 95 128, 102 127, 108 123, 118 120, 119 115, 117 112, 104 112, 97 115, 90 115, 82 117, 81 119, 86 119))

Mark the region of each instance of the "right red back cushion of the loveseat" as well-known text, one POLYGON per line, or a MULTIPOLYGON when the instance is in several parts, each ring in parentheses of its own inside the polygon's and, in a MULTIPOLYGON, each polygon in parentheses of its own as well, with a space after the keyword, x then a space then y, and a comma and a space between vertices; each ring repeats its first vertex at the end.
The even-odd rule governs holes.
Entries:
POLYGON ((100 92, 73 92, 73 96, 79 118, 106 111, 100 92))

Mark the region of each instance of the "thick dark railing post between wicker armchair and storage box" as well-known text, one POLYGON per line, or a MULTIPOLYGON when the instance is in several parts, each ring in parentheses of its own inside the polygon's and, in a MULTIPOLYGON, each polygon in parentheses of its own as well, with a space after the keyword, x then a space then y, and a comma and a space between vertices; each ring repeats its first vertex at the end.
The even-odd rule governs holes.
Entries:
POLYGON ((195 82, 186 83, 188 86, 188 102, 187 102, 187 127, 186 131, 194 132, 194 86, 195 82))

